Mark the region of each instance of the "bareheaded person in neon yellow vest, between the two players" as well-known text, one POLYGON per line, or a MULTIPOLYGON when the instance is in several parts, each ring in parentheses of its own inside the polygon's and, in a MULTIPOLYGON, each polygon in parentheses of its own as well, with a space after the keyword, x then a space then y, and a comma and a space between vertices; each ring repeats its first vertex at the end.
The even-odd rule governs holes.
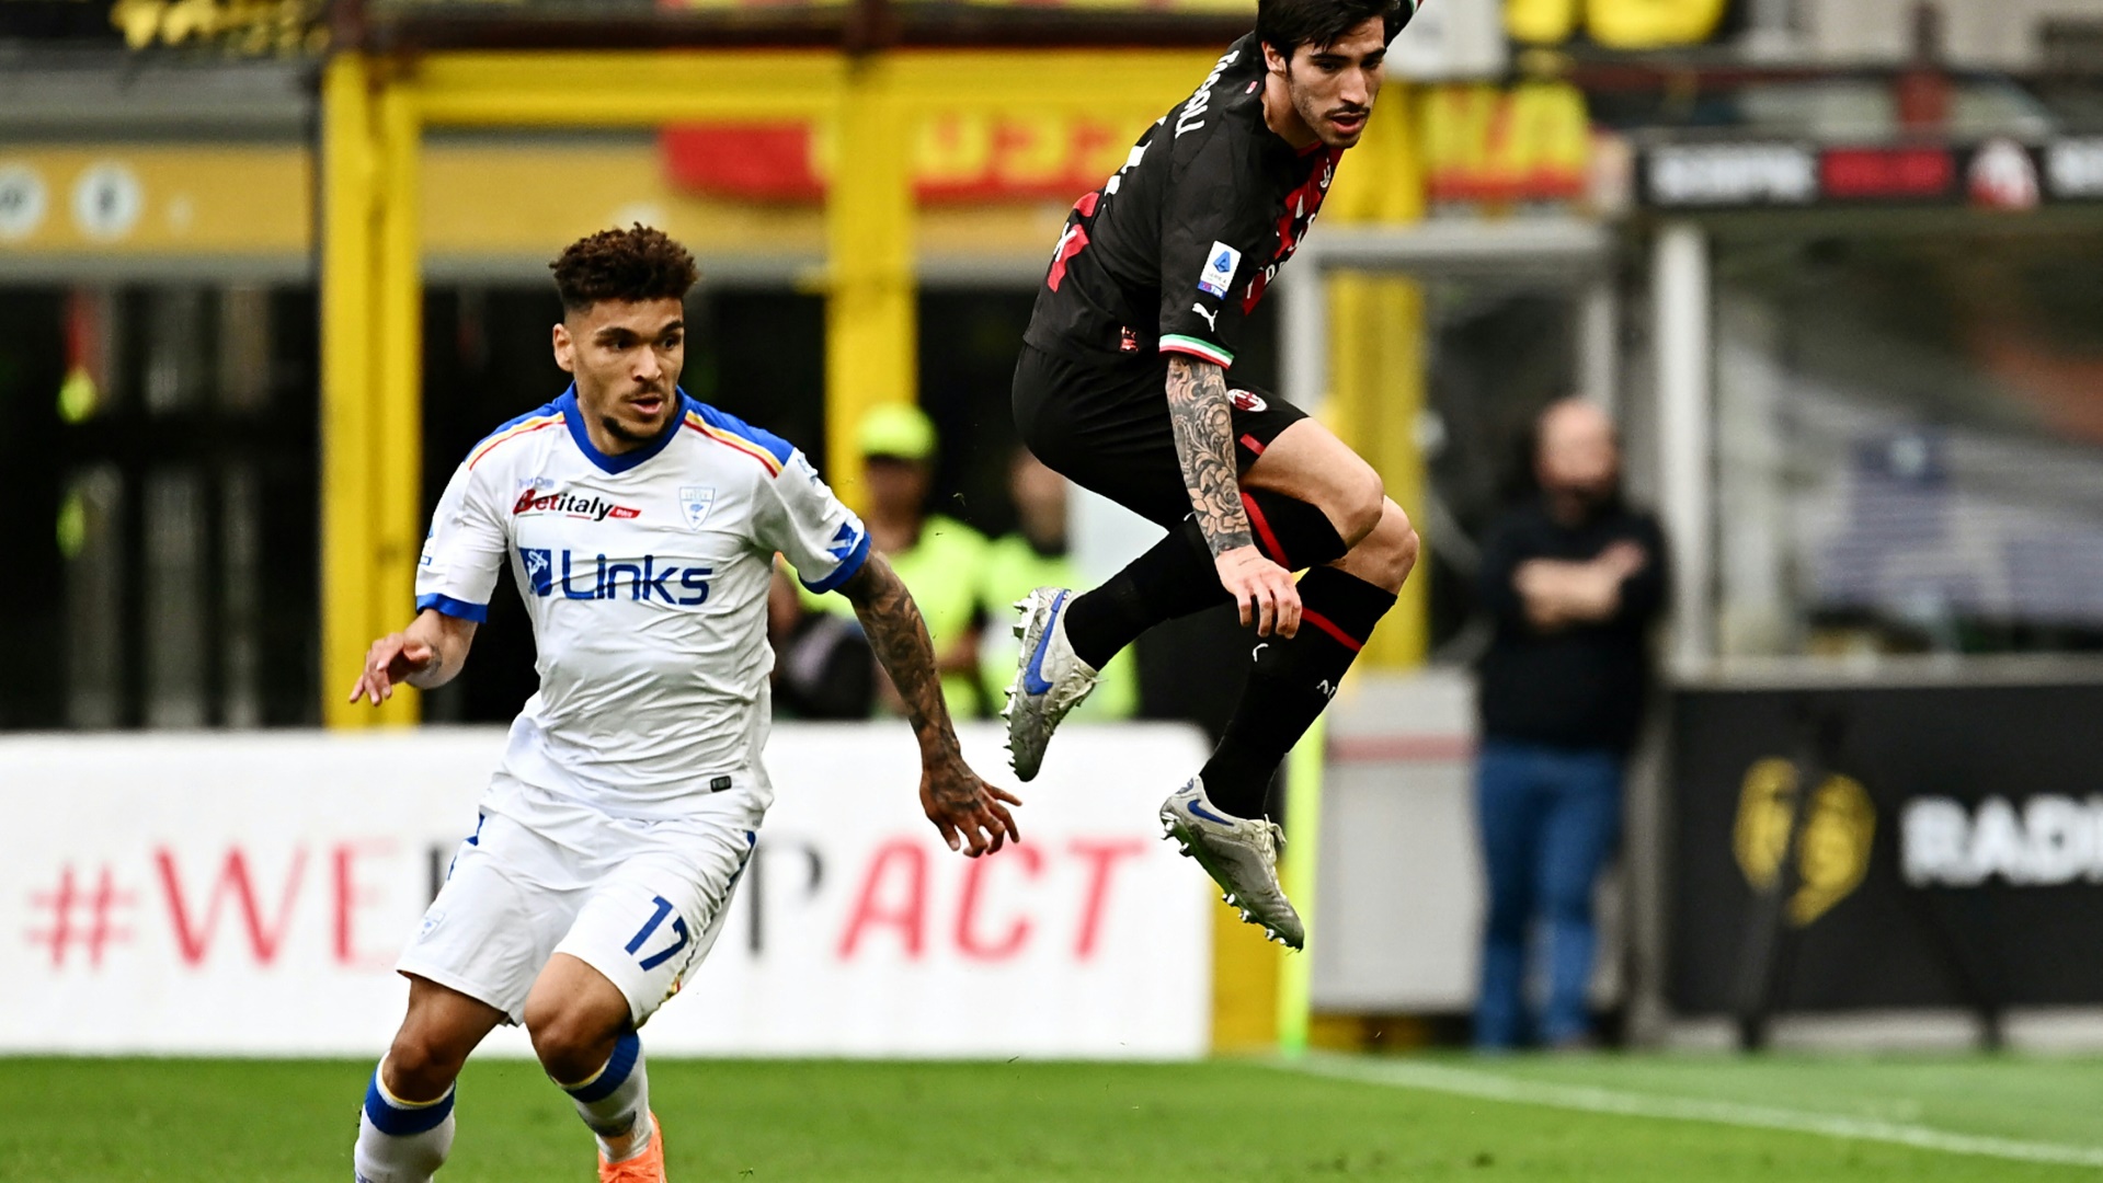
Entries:
MULTIPOLYGON (((1016 601, 1041 586, 1073 588, 1087 580, 1066 557, 1066 477, 1045 469, 1028 448, 1016 448, 1007 469, 1007 492, 1016 498, 1016 530, 997 538, 986 551, 980 616, 1009 620, 1016 601)), ((913 586, 911 580, 906 586, 913 586)), ((919 595, 919 593, 915 593, 919 595)), ((1016 677, 1016 651, 1022 641, 1007 628, 988 628, 980 645, 980 683, 986 702, 1003 702, 1007 683, 1016 677)), ((1129 719, 1140 706, 1140 672, 1125 647, 1096 677, 1096 691, 1077 706, 1070 719, 1129 719)))

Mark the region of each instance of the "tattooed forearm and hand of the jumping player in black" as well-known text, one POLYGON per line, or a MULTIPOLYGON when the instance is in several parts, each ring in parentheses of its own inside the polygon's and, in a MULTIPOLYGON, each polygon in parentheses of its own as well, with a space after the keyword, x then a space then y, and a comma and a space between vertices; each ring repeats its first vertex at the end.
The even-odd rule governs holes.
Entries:
POLYGON ((1211 546, 1220 586, 1241 607, 1241 622, 1255 620, 1255 635, 1300 630, 1300 588, 1293 574, 1255 548, 1249 515, 1241 506, 1241 477, 1234 466, 1234 416, 1226 401, 1226 370, 1211 361, 1169 355, 1169 424, 1176 429, 1176 458, 1197 525, 1211 546))

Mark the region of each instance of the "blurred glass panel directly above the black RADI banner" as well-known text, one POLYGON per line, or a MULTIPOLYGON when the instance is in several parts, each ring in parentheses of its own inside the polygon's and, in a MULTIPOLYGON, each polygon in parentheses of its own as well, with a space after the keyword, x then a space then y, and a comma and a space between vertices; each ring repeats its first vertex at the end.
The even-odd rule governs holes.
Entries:
POLYGON ((1724 656, 2103 649, 2103 235, 1718 250, 1724 656))

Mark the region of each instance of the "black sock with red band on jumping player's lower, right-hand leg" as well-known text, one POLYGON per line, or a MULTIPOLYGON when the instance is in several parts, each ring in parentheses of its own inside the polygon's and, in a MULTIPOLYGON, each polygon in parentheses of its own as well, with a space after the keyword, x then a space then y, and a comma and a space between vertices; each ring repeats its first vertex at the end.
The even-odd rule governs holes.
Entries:
POLYGON ((1205 763, 1205 796, 1234 817, 1262 817, 1285 752, 1329 706, 1394 593, 1335 567, 1300 578, 1300 632, 1258 645, 1234 719, 1205 763))

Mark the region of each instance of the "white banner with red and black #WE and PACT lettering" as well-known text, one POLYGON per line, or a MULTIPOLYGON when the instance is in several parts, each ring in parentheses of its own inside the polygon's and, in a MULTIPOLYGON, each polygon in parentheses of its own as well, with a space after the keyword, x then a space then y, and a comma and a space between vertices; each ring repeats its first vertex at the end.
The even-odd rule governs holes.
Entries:
MULTIPOLYGON (((999 740, 965 750, 999 769, 999 740)), ((0 742, 0 1053, 379 1055, 501 752, 496 729, 0 742)), ((902 723, 778 727, 757 853, 650 1051, 1205 1053, 1209 885, 1155 822, 1201 759, 1182 727, 1075 727, 1024 786, 1026 840, 974 862, 921 817, 902 723)))

